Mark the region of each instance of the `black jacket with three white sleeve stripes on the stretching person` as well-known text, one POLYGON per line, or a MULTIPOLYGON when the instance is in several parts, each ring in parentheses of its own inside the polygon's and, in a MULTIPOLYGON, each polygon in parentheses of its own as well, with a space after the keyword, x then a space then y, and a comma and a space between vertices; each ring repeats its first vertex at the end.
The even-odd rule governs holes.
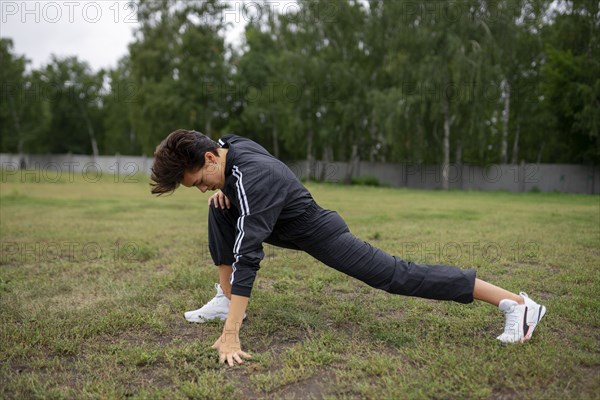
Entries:
POLYGON ((256 142, 227 135, 219 145, 228 149, 222 192, 240 213, 231 293, 248 297, 264 257, 263 242, 276 225, 299 217, 314 200, 287 165, 256 142))

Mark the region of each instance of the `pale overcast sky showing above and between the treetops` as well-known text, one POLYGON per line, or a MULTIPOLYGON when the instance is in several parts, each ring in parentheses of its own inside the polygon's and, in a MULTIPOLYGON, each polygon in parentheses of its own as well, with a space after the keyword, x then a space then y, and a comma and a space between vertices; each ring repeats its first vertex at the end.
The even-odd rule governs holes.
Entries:
MULTIPOLYGON (((272 5, 289 3, 279 0, 272 5)), ((226 34, 228 43, 239 44, 245 21, 254 11, 248 0, 229 1, 224 15, 233 27, 226 34)), ((0 0, 0 37, 13 40, 13 52, 40 68, 50 55, 72 56, 87 61, 93 70, 114 68, 127 54, 138 26, 135 3, 126 0, 0 0)))

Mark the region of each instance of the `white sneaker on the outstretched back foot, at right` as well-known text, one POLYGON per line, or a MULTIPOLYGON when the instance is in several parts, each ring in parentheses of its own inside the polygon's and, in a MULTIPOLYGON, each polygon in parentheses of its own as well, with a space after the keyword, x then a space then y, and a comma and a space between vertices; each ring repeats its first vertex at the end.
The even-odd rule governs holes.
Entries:
POLYGON ((525 304, 508 299, 499 304, 506 317, 504 332, 497 337, 502 343, 523 343, 531 339, 537 324, 546 314, 546 307, 531 300, 527 293, 521 292, 519 295, 525 304))

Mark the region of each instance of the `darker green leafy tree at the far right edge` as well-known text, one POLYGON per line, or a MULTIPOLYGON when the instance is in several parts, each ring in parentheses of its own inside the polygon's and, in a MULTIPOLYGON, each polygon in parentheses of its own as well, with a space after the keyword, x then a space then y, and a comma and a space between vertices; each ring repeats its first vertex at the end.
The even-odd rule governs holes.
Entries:
POLYGON ((545 158, 600 162, 600 10, 597 2, 564 1, 547 27, 542 67, 544 105, 556 121, 545 158))

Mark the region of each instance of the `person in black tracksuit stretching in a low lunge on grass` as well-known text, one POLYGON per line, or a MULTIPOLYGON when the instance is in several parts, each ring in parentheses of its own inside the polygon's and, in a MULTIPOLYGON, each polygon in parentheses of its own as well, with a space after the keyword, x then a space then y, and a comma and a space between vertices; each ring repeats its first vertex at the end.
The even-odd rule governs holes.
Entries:
POLYGON ((321 208, 291 170, 252 140, 227 135, 218 143, 187 130, 172 132, 156 148, 152 193, 180 184, 201 192, 218 190, 209 201, 209 248, 219 269, 217 295, 185 313, 191 322, 225 320, 213 348, 233 366, 250 357, 239 331, 260 262, 263 243, 302 250, 324 264, 389 293, 498 306, 505 314, 504 343, 524 342, 546 308, 523 292, 514 294, 476 278, 473 269, 418 265, 391 256, 356 238, 344 220, 321 208))

